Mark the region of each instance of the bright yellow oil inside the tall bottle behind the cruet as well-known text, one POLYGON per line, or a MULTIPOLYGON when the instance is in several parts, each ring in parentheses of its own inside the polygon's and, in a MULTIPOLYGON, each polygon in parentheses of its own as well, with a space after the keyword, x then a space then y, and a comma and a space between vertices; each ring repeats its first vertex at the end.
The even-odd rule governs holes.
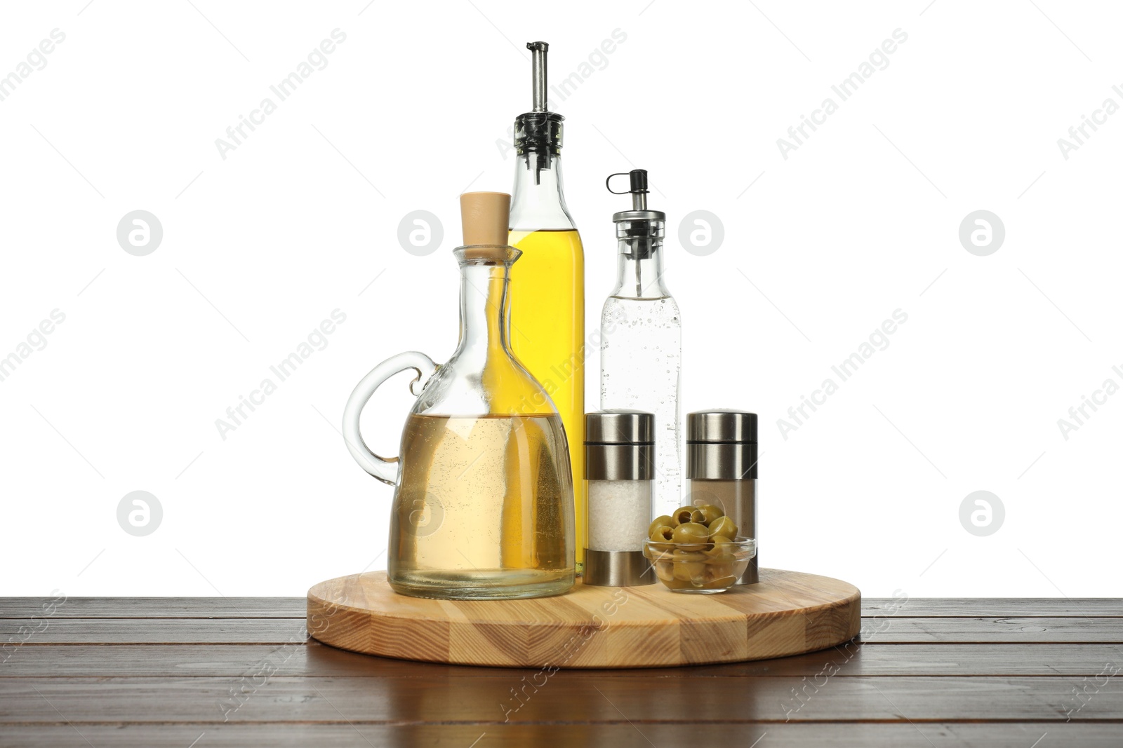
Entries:
POLYGON ((573 467, 577 571, 584 565, 585 257, 575 230, 512 230, 511 350, 554 400, 573 467))

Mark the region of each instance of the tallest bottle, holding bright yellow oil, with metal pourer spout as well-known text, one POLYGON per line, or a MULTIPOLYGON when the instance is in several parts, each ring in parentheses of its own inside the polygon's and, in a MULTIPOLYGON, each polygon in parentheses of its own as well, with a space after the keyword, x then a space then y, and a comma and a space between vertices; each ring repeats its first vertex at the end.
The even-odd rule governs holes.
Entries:
POLYGON ((532 55, 533 109, 514 120, 511 349, 550 396, 565 427, 573 467, 577 570, 583 567, 585 520, 585 257, 562 192, 560 114, 547 111, 545 41, 532 55))

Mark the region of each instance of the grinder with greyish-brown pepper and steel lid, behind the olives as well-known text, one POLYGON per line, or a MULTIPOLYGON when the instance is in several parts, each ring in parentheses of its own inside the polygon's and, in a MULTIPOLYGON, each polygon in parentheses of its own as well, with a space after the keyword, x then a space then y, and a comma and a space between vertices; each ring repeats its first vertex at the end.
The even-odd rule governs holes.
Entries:
MULTIPOLYGON (((686 478, 690 504, 712 504, 757 541, 757 414, 700 410, 686 416, 686 478)), ((759 580, 759 552, 737 584, 759 580)))

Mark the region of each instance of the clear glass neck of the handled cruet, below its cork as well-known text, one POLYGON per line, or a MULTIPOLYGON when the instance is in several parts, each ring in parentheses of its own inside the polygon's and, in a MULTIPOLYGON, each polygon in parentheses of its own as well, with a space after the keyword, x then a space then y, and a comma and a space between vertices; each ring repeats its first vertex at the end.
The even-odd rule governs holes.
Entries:
POLYGON ((506 266, 460 266, 460 342, 454 358, 471 358, 482 368, 489 352, 510 354, 506 290, 506 266))

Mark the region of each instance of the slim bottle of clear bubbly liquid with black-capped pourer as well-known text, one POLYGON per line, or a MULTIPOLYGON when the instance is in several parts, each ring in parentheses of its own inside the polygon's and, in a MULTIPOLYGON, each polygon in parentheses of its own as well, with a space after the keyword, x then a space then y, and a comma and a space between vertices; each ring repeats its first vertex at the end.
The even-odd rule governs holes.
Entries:
MULTIPOLYGON (((621 175, 613 174, 609 181, 613 176, 621 175)), ((612 216, 619 247, 618 277, 601 314, 601 408, 655 414, 652 510, 659 516, 682 506, 682 317, 664 283, 667 215, 647 207, 645 169, 634 169, 628 177, 632 210, 612 216)))

